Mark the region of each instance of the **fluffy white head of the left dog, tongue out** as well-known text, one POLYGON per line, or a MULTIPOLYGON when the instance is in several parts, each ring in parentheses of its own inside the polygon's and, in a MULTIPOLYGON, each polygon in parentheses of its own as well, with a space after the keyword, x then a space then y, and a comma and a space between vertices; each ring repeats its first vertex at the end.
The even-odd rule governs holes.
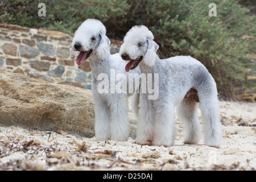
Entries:
POLYGON ((104 59, 109 54, 109 44, 104 24, 96 19, 85 20, 77 29, 72 41, 73 50, 80 52, 76 63, 80 65, 95 54, 99 59, 104 59))

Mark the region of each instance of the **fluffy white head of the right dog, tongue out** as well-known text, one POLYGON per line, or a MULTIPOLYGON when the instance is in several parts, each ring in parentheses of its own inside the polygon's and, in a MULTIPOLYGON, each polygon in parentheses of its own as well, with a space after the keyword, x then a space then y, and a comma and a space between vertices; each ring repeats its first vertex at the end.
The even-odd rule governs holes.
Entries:
POLYGON ((140 63, 152 67, 155 64, 156 51, 159 46, 154 42, 154 35, 145 26, 134 26, 131 28, 120 48, 120 55, 123 60, 129 61, 125 71, 135 69, 140 63))

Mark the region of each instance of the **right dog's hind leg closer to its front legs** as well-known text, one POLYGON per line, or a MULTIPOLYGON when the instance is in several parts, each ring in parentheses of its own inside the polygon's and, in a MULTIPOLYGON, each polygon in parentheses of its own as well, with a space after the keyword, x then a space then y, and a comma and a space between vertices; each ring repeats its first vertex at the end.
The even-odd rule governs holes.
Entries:
POLYGON ((184 143, 196 144, 201 138, 201 127, 197 118, 197 95, 184 98, 177 105, 177 115, 184 127, 184 143))

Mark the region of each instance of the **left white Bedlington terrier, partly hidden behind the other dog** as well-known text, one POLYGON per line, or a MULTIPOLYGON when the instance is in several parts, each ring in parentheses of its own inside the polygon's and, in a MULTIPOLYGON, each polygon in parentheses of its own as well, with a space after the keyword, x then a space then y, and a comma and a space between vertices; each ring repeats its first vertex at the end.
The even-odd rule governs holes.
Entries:
MULTIPOLYGON (((78 65, 90 57, 96 140, 124 141, 129 137, 127 98, 132 94, 121 92, 123 90, 117 92, 120 80, 126 81, 128 78, 124 69, 126 61, 123 61, 118 53, 110 55, 109 45, 106 28, 96 19, 85 20, 75 32, 72 41, 73 51, 80 52, 76 61, 78 65), (119 79, 118 74, 121 75, 119 79), (125 77, 122 77, 123 75, 125 77)), ((135 69, 134 73, 139 74, 139 68, 135 69)), ((126 88, 125 85, 121 84, 122 86, 126 88)))

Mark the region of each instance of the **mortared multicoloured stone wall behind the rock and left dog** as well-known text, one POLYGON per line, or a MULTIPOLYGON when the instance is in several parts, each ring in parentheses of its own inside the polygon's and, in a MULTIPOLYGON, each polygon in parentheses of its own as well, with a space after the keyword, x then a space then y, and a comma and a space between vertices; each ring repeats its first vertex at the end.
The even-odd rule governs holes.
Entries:
MULTIPOLYGON (((89 62, 76 64, 72 39, 71 35, 59 31, 0 24, 0 71, 90 89, 89 62)), ((110 52, 118 52, 121 42, 111 42, 110 52)))

